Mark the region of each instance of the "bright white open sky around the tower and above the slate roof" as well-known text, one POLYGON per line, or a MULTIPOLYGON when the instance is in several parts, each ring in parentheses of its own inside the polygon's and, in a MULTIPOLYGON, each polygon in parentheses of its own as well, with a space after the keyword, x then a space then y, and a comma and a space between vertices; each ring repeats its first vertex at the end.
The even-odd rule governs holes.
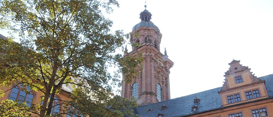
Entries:
MULTIPOLYGON (((120 8, 106 15, 112 31, 132 31, 140 22, 145 0, 118 0, 120 8)), ((255 76, 273 74, 273 1, 147 0, 152 22, 174 62, 171 98, 221 87, 233 59, 255 76)), ((131 48, 128 48, 131 51, 131 48)))

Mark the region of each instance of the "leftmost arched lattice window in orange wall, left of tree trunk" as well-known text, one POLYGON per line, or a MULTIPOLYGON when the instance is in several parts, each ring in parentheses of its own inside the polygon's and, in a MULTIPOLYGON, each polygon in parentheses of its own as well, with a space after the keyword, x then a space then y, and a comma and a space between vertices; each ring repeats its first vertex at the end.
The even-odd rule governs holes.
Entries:
POLYGON ((25 88, 22 87, 22 84, 16 85, 12 88, 8 99, 13 101, 18 100, 19 102, 26 102, 27 107, 30 107, 34 97, 34 92, 30 90, 29 86, 26 87, 26 90, 27 92, 25 91, 25 88))

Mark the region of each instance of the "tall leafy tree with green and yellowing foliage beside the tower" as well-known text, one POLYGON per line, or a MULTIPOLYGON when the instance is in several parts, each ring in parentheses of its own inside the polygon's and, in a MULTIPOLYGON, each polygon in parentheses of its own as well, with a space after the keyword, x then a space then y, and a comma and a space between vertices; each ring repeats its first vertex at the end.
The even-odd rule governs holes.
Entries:
MULTIPOLYGON (((55 94, 68 84, 74 90, 71 100, 63 103, 83 115, 121 116, 120 110, 130 108, 130 101, 113 98, 111 85, 120 86, 121 72, 127 82, 134 78, 143 58, 115 54, 126 35, 119 30, 110 33, 112 21, 103 17, 101 9, 111 13, 111 5, 119 6, 115 0, 1 1, 0 28, 17 33, 20 43, 12 41, 13 36, 0 39, 0 87, 20 83, 44 95, 41 106, 16 108, 50 116, 55 94), (113 76, 107 71, 112 66, 119 68, 113 76)), ((68 106, 64 109, 53 116, 70 112, 68 106)))

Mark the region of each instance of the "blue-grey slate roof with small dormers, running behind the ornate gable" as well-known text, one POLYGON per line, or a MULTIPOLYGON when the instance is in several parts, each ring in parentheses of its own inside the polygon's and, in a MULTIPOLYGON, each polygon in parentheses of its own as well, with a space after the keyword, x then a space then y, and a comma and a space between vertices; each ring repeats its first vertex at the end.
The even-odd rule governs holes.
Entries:
MULTIPOLYGON (((270 97, 273 97, 273 74, 259 77, 261 80, 265 80, 265 86, 270 97)), ((211 90, 206 90, 203 92, 198 92, 195 94, 178 97, 174 99, 165 100, 162 102, 157 102, 154 104, 149 104, 145 106, 139 106, 135 109, 134 113, 137 113, 141 117, 157 117, 161 106, 165 104, 167 106, 166 110, 161 111, 164 117, 182 117, 187 115, 192 115, 196 113, 201 113, 204 111, 210 111, 214 109, 220 109, 221 99, 218 91, 222 87, 214 88, 211 90), (198 111, 192 112, 192 106, 194 106, 194 98, 199 98, 199 103, 195 105, 198 107, 198 111), (149 109, 152 111, 147 112, 149 109)))

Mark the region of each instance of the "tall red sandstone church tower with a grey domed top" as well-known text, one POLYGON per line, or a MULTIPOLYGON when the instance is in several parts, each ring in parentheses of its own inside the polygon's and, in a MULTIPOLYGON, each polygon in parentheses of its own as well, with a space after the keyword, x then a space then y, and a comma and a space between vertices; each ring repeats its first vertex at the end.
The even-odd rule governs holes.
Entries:
MULTIPOLYGON (((161 102, 170 99, 170 69, 173 62, 168 59, 166 52, 160 52, 162 34, 159 28, 150 20, 152 14, 146 10, 140 13, 141 22, 135 25, 131 32, 130 41, 135 45, 131 52, 125 48, 124 57, 141 53, 144 58, 141 74, 130 84, 123 82, 121 96, 137 101, 139 106, 161 102)), ((124 77, 123 77, 124 80, 124 77)))

